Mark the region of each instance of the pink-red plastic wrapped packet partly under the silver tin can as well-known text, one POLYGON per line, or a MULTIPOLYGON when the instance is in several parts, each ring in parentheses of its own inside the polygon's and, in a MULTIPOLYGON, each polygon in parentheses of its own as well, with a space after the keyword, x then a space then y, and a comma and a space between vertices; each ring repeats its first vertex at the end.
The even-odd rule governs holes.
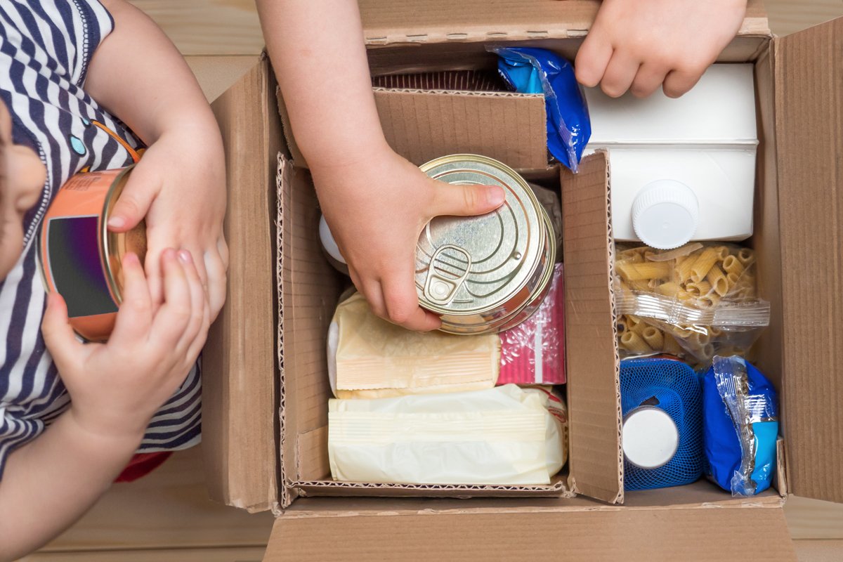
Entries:
POLYGON ((556 264, 550 291, 524 323, 501 333, 498 384, 565 383, 565 301, 562 265, 556 264))

